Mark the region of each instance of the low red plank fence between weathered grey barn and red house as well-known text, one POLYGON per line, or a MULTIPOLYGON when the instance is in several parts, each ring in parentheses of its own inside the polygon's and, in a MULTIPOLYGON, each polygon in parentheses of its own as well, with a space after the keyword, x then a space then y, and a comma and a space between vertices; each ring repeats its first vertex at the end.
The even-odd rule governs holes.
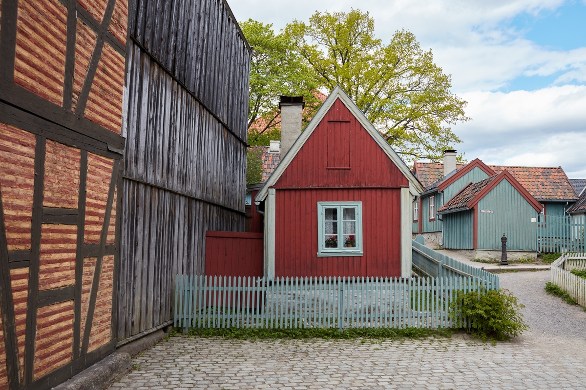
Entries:
POLYGON ((263 277, 263 234, 207 231, 206 275, 263 277))

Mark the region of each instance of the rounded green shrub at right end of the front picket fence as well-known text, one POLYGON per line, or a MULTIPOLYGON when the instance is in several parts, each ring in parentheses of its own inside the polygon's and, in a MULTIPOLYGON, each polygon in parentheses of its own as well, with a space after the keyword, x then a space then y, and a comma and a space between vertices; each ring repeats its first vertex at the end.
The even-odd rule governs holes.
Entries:
POLYGON ((523 321, 519 303, 509 290, 456 292, 451 317, 466 332, 486 339, 509 340, 529 329, 523 321))

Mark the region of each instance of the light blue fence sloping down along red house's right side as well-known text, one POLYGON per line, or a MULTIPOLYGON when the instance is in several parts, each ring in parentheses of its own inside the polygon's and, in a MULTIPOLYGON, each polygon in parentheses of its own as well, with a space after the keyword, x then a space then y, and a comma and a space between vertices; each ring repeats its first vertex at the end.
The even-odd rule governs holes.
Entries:
POLYGON ((481 268, 462 263, 443 253, 425 246, 424 237, 419 234, 413 240, 413 254, 411 256, 413 268, 434 278, 442 277, 472 277, 481 279, 489 289, 499 289, 499 275, 491 274, 481 268))

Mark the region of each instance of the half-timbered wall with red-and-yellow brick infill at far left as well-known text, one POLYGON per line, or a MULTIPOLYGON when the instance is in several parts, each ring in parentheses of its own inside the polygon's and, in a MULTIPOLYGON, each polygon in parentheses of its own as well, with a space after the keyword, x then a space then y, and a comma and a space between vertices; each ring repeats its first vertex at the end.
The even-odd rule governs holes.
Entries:
POLYGON ((126 0, 2 0, 0 390, 115 348, 126 0))

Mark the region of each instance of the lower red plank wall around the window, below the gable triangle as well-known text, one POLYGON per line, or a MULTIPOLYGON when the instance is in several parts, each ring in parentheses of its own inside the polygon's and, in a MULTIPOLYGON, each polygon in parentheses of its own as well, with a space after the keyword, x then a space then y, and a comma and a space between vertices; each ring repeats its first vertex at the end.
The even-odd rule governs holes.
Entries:
POLYGON ((277 191, 275 277, 400 277, 401 190, 277 191), (363 256, 318 257, 318 202, 362 201, 363 256))

